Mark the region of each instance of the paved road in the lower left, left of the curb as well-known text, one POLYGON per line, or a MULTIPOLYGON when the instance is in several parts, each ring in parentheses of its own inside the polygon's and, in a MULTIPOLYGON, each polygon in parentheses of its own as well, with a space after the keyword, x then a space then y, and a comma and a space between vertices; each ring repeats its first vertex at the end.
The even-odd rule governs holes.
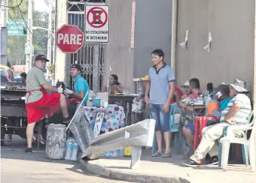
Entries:
POLYGON ((20 183, 62 183, 62 182, 124 182, 91 175, 81 169, 78 162, 48 160, 44 150, 26 154, 23 149, 26 141, 14 136, 1 148, 1 182, 20 183))

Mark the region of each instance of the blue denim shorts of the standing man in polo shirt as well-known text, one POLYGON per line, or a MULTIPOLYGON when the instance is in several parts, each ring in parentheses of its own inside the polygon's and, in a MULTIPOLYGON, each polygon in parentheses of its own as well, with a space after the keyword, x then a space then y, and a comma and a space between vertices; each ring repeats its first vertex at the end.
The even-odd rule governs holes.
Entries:
POLYGON ((169 113, 163 113, 163 105, 149 104, 151 111, 151 118, 156 120, 155 131, 161 130, 163 132, 169 131, 169 113))

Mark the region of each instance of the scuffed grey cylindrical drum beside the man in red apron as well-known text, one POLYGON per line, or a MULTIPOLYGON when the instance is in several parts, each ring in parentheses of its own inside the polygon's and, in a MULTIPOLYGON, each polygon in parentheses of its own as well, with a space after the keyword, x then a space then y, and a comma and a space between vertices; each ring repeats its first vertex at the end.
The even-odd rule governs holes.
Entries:
POLYGON ((66 125, 49 124, 45 153, 47 158, 53 160, 64 159, 66 152, 66 125))

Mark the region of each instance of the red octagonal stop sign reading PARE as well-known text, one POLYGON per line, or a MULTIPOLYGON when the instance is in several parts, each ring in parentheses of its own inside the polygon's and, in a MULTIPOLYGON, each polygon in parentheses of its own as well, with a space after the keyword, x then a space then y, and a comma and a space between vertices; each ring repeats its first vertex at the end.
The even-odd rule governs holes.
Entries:
POLYGON ((78 49, 84 45, 84 33, 78 26, 64 25, 56 31, 55 43, 62 52, 78 52, 78 49))

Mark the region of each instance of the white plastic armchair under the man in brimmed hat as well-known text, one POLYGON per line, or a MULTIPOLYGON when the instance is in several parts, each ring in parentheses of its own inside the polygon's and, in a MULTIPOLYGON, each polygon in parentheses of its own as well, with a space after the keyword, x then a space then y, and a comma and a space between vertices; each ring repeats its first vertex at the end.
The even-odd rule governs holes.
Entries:
POLYGON ((254 124, 254 120, 250 124, 241 124, 241 125, 233 125, 227 127, 227 136, 221 138, 222 144, 222 152, 221 152, 221 167, 224 171, 227 170, 227 161, 228 155, 230 151, 230 143, 238 143, 242 145, 246 145, 248 147, 249 152, 249 160, 251 164, 252 172, 255 172, 255 142, 254 136, 256 133, 256 124, 254 124), (249 139, 238 138, 234 135, 235 130, 251 130, 251 136, 249 139))

